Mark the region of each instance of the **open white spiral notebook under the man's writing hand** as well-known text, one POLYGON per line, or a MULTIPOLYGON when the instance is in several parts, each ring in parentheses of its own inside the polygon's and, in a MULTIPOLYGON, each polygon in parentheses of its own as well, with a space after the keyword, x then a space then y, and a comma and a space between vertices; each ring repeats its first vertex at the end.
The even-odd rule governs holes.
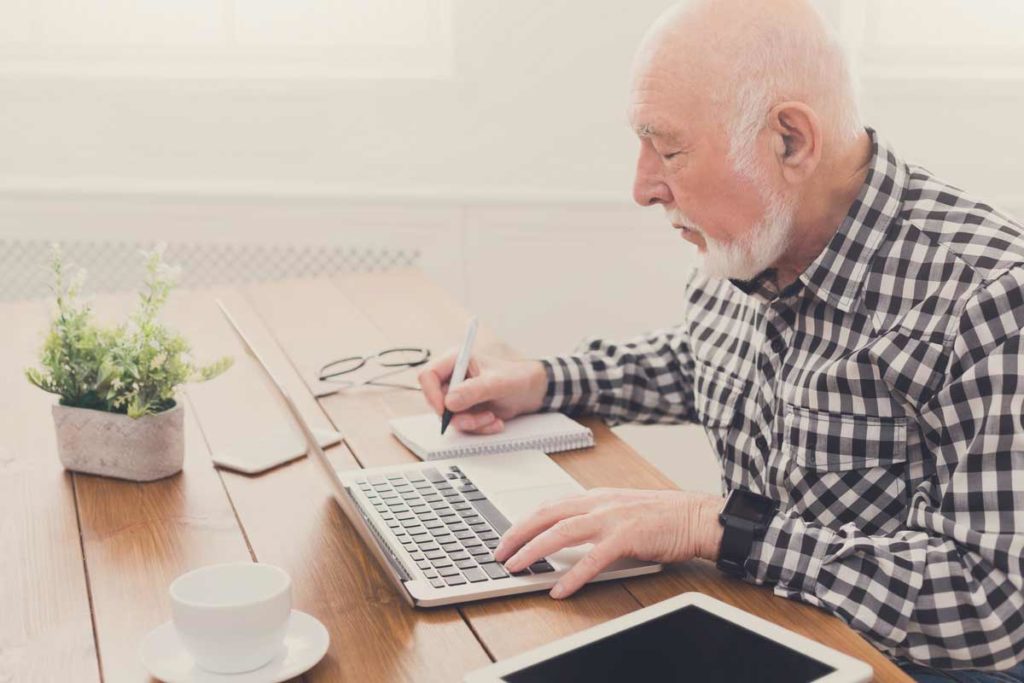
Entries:
POLYGON ((594 433, 561 413, 523 415, 506 422, 498 434, 486 436, 465 434, 455 427, 441 434, 440 418, 429 413, 396 418, 388 424, 395 437, 421 460, 529 449, 557 453, 594 445, 594 433))

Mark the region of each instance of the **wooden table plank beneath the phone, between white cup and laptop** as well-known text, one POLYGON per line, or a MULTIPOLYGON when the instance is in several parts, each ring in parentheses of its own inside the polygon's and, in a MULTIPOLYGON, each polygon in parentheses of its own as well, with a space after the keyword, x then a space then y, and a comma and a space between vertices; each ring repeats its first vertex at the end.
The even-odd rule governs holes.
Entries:
MULTIPOLYGON (((238 293, 217 294, 310 425, 331 426, 247 299, 238 293)), ((168 316, 197 348, 236 357, 224 381, 188 389, 210 447, 226 447, 254 431, 290 428, 287 409, 245 354, 212 297, 195 295, 178 303, 168 316)), ((310 310, 305 305, 292 308, 299 313, 310 310)), ((333 447, 328 455, 338 467, 356 466, 345 446, 333 447)), ((419 611, 401 600, 310 459, 262 475, 224 471, 222 476, 256 556, 292 575, 296 608, 319 618, 331 634, 330 651, 307 674, 308 680, 451 681, 488 661, 456 609, 419 611)))

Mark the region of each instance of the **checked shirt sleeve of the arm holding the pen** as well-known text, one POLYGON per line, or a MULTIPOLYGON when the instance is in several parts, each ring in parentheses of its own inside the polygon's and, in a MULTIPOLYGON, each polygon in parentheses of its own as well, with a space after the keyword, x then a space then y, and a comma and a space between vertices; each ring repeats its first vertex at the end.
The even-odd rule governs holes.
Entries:
POLYGON ((542 358, 542 410, 590 413, 611 424, 693 422, 693 358, 682 327, 624 342, 594 339, 573 355, 542 358))

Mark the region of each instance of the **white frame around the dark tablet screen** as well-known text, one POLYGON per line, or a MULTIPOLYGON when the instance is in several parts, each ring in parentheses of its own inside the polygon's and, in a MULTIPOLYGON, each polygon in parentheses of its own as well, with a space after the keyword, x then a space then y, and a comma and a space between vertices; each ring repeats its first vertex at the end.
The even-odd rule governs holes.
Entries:
POLYGON ((721 600, 716 600, 702 593, 683 593, 649 607, 637 609, 629 614, 624 614, 604 624, 586 629, 571 636, 566 636, 547 645, 522 652, 508 659, 496 661, 488 667, 470 672, 464 680, 466 683, 493 683, 501 681, 504 676, 527 669, 545 659, 550 659, 563 652, 568 652, 592 643, 595 640, 606 638, 620 631, 625 631, 644 622, 657 618, 663 614, 691 605, 721 616, 736 626, 753 631, 836 670, 827 676, 816 679, 815 683, 861 683, 863 681, 870 681, 874 675, 874 671, 867 663, 855 659, 817 641, 783 629, 760 616, 755 616, 750 612, 733 607, 721 600))

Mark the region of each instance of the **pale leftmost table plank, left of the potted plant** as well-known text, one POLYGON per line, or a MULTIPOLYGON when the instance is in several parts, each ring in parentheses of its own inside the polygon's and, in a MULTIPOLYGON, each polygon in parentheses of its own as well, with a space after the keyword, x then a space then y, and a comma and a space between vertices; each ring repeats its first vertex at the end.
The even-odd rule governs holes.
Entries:
POLYGON ((98 681, 73 475, 33 387, 45 303, 0 305, 0 681, 98 681))

